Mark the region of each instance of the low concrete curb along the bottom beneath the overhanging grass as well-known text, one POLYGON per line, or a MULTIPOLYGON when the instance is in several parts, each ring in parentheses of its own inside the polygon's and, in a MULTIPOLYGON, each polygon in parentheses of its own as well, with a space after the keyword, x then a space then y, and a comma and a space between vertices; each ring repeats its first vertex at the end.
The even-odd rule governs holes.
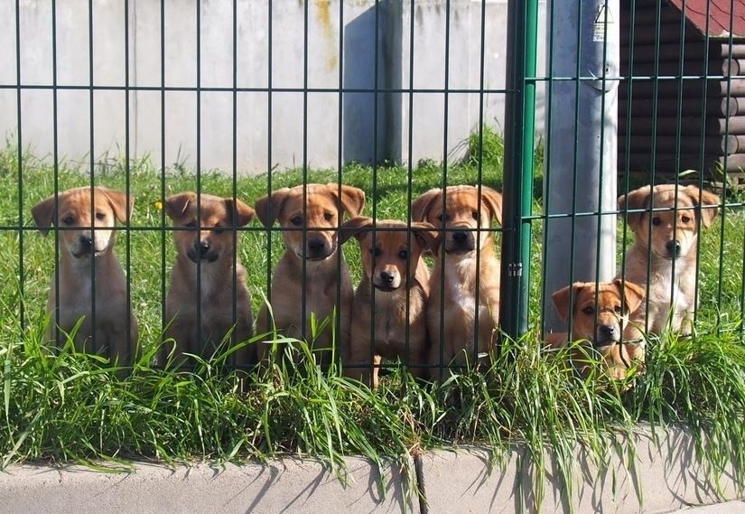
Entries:
POLYGON ((636 435, 634 452, 619 444, 599 471, 588 453, 577 449, 571 491, 560 480, 559 463, 549 454, 540 472, 526 449, 515 446, 502 465, 489 469, 485 448, 434 451, 417 458, 416 480, 399 466, 380 470, 364 459, 347 459, 339 476, 307 459, 168 468, 135 463, 129 472, 93 472, 82 466, 55 469, 19 465, 0 472, 0 512, 120 514, 122 512, 271 514, 357 512, 686 512, 745 514, 738 488, 725 472, 715 490, 706 470, 695 463, 694 440, 671 429, 655 440, 636 435), (629 456, 630 455, 630 456, 629 456), (542 483, 542 499, 532 484, 542 483), (423 491, 426 503, 417 490, 423 491), (716 491, 721 492, 721 496, 716 491))

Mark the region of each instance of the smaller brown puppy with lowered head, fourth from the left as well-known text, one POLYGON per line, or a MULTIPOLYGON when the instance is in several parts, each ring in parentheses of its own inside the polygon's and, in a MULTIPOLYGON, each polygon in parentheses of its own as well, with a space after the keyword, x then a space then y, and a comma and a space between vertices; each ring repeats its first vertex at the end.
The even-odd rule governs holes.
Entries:
POLYGON ((369 385, 372 368, 372 387, 377 388, 380 362, 399 358, 414 376, 423 376, 428 350, 424 303, 430 272, 421 257, 424 248, 434 246, 434 227, 413 222, 409 232, 404 221, 374 223, 359 217, 346 222, 344 229, 340 243, 353 235, 358 239, 364 270, 352 304, 344 373, 369 385))

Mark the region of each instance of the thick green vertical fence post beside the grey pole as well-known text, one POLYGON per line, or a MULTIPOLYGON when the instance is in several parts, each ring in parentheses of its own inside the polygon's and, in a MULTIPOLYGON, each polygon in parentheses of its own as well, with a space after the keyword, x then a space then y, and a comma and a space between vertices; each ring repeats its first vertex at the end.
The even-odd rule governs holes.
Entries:
POLYGON ((538 0, 509 0, 499 319, 516 340, 527 331, 537 30, 538 0))

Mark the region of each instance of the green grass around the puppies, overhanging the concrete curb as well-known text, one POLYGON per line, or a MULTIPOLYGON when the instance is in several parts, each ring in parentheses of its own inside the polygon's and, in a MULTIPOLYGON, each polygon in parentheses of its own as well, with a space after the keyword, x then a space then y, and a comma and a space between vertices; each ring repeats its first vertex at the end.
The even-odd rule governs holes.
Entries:
MULTIPOLYGON (((564 358, 569 350, 546 357, 536 342, 541 319, 541 224, 536 222, 532 332, 520 341, 506 341, 479 370, 466 369, 440 386, 418 383, 394 369, 371 391, 340 377, 334 367, 321 371, 300 341, 288 347, 296 353, 293 361, 299 372, 284 368, 286 360, 249 376, 225 369, 220 358, 203 361, 190 372, 154 367, 163 327, 163 291, 174 257, 168 223, 157 202, 163 193, 195 190, 196 180, 181 165, 162 174, 148 159, 128 164, 103 159, 95 175, 96 185, 124 189, 128 172, 135 195, 132 230, 128 238, 122 234, 116 249, 130 278, 145 349, 142 359, 123 376, 106 360, 80 354, 71 344, 43 345, 54 243, 53 236, 35 233, 30 209, 55 187, 87 184, 89 175, 66 164, 55 175, 50 164, 33 154, 24 154, 21 164, 12 146, 0 152, 0 178, 10 186, 0 195, 0 277, 5 282, 0 289, 0 468, 40 460, 91 466, 126 465, 131 459, 264 461, 294 453, 319 458, 340 471, 345 455, 360 454, 377 463, 394 459, 414 483, 412 459, 425 449, 486 444, 497 450, 496 464, 511 444, 522 443, 535 467, 539 501, 539 483, 549 467, 545 449, 559 457, 559 472, 571 488, 576 444, 604 463, 616 442, 612 435, 631 435, 640 424, 657 429, 684 423, 693 430, 699 457, 712 477, 734 463, 743 483, 741 204, 728 208, 713 229, 703 232, 700 332, 694 338, 671 335, 650 341, 646 373, 622 383, 601 374, 579 378, 564 358), (19 231, 19 225, 25 229, 19 231)), ((485 132, 483 138, 471 138, 469 156, 446 172, 448 183, 481 180, 499 188, 498 136, 485 132)), ((405 220, 410 199, 441 186, 443 173, 442 166, 433 163, 412 170, 349 164, 340 171, 312 170, 304 176, 297 170, 273 173, 271 181, 274 189, 303 178, 356 185, 368 193, 368 215, 405 220)), ((265 175, 237 177, 237 196, 252 204, 265 194, 267 183, 265 175)), ((218 172, 202 173, 200 186, 225 196, 234 188, 232 178, 218 172)), ((539 200, 535 210, 540 210, 539 200)), ((619 230, 619 238, 621 234, 619 230)), ((257 222, 242 230, 240 239, 239 257, 250 270, 256 312, 282 241, 276 231, 267 233, 257 222)), ((344 252, 357 282, 359 250, 349 244, 344 252)))

